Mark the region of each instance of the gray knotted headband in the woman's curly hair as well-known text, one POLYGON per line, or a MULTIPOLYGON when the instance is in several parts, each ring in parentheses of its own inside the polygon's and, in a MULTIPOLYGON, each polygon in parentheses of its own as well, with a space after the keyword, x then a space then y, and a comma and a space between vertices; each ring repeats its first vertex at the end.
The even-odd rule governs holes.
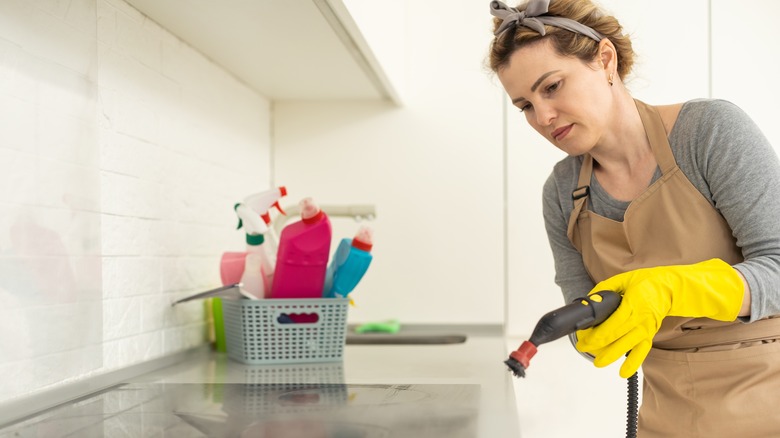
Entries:
POLYGON ((582 23, 565 17, 544 15, 547 13, 547 7, 549 5, 550 0, 530 0, 525 11, 521 12, 516 8, 507 6, 504 2, 498 0, 491 1, 490 14, 504 20, 501 25, 498 26, 494 35, 498 36, 512 26, 523 26, 533 29, 539 32, 539 35, 544 36, 544 25, 549 24, 550 26, 560 27, 561 29, 585 35, 596 42, 599 42, 604 38, 598 32, 582 23))

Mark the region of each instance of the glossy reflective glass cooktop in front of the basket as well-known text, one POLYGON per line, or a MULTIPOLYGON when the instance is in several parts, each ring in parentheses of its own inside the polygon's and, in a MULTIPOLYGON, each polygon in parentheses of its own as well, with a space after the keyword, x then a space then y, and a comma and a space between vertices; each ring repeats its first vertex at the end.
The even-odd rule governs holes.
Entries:
POLYGON ((129 383, 4 437, 474 438, 479 385, 129 383))

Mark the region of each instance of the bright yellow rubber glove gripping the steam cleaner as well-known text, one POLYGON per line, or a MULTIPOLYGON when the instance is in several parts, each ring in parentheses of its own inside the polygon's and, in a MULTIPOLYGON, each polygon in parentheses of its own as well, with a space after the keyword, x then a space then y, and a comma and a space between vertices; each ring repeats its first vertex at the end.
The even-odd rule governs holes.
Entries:
POLYGON ((666 316, 734 321, 742 307, 742 277, 720 259, 637 269, 608 278, 590 293, 612 290, 623 301, 606 321, 577 332, 577 350, 605 367, 627 352, 620 375, 631 377, 650 352, 666 316))

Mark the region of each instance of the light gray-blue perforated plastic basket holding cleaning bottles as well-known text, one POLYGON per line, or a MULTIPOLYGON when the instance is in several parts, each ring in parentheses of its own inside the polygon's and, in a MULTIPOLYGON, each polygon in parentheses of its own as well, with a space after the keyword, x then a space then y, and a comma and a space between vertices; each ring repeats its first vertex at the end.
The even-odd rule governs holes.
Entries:
POLYGON ((346 298, 222 300, 228 357, 250 365, 340 361, 348 308, 346 298), (316 321, 285 322, 301 315, 316 321))

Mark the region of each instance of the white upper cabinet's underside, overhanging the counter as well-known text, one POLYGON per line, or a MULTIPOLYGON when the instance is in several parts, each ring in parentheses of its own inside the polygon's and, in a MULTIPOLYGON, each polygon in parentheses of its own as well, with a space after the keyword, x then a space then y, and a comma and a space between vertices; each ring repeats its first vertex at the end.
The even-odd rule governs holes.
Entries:
POLYGON ((341 0, 127 0, 272 100, 397 102, 341 0))

